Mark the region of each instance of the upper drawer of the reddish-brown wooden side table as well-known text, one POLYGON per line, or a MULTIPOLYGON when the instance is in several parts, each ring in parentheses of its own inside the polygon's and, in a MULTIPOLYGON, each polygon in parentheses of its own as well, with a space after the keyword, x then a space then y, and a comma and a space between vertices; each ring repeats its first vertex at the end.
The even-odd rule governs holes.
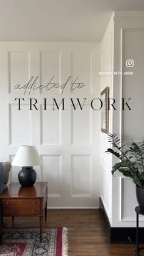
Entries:
POLYGON ((34 200, 2 200, 2 205, 4 206, 15 206, 15 207, 29 207, 29 206, 39 206, 40 200, 34 199, 34 200))

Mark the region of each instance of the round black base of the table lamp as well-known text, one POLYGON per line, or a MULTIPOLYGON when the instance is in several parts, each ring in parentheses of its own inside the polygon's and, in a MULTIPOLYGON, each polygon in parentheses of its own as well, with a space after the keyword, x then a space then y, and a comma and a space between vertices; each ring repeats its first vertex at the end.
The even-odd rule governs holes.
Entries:
POLYGON ((37 173, 32 166, 22 167, 18 174, 18 180, 23 187, 31 187, 34 185, 37 173))

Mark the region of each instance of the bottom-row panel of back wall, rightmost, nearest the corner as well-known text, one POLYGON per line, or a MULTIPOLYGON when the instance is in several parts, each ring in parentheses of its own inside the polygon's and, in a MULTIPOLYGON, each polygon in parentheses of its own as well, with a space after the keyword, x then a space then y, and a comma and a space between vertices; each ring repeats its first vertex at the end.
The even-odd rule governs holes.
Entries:
POLYGON ((91 195, 91 156, 71 156, 71 196, 91 195))

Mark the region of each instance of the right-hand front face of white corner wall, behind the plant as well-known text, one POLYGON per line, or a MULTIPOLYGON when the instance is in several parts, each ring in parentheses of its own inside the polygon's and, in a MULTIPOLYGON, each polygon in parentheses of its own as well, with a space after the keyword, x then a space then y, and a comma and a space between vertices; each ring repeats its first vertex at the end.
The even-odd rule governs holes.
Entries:
MULTIPOLYGON (((118 101, 119 109, 113 111, 113 131, 129 144, 142 141, 144 135, 144 12, 115 12, 114 23, 114 69, 133 71, 134 75, 113 77, 113 97, 118 101), (134 60, 134 67, 126 66, 127 59, 134 60), (131 111, 120 110, 121 98, 131 98, 131 111)), ((112 180, 112 202, 112 226, 135 227, 134 208, 137 200, 131 179, 115 175, 112 180)), ((143 220, 141 217, 141 226, 144 226, 143 220)))

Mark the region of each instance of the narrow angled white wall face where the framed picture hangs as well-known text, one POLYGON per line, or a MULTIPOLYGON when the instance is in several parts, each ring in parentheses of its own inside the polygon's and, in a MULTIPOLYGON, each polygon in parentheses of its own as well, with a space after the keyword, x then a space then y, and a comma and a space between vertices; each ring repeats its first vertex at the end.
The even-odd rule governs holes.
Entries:
MULTIPOLYGON (((101 71, 113 71, 113 33, 114 23, 113 15, 110 19, 107 30, 101 42, 101 71)), ((105 87, 109 87, 109 97, 113 98, 113 76, 101 75, 101 91, 105 87)), ((109 111, 109 133, 112 133, 112 109, 109 111)), ((101 198, 104 207, 111 222, 112 218, 112 156, 105 151, 109 148, 108 137, 106 133, 101 132, 101 172, 102 172, 102 188, 101 198)))

